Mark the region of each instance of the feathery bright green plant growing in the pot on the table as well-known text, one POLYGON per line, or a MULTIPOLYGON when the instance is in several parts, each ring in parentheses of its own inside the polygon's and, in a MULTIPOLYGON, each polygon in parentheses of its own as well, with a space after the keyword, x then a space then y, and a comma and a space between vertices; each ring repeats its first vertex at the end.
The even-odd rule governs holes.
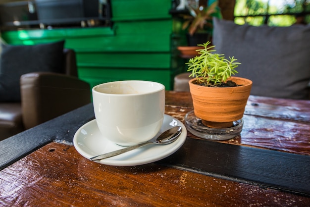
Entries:
POLYGON ((214 53, 215 46, 209 46, 210 42, 198 45, 204 49, 197 50, 200 55, 190 58, 186 63, 187 71, 192 71, 189 77, 197 78, 197 84, 218 87, 232 75, 238 73, 235 68, 239 62, 234 57, 225 59, 224 54, 214 53))

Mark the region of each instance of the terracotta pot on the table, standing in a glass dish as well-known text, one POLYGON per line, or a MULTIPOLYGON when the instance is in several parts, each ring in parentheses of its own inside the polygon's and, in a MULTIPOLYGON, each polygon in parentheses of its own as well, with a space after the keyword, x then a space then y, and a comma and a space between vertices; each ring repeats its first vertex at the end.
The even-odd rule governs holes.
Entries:
POLYGON ((252 81, 231 77, 228 80, 241 85, 237 87, 206 87, 195 84, 196 78, 189 81, 195 116, 211 128, 229 128, 233 121, 243 117, 250 96, 252 81))

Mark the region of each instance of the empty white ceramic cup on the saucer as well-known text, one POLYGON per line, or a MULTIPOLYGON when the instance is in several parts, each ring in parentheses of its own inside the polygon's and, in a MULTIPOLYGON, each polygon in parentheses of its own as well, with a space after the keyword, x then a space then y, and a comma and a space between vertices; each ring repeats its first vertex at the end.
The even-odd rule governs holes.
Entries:
POLYGON ((121 146, 147 142, 160 130, 164 85, 150 81, 116 81, 93 88, 96 122, 103 136, 121 146))

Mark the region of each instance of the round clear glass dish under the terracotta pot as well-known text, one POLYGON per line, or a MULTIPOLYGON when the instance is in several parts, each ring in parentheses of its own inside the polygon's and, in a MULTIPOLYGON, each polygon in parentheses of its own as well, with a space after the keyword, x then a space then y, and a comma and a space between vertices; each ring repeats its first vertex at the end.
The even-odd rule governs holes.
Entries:
POLYGON ((197 137, 207 140, 228 140, 240 135, 243 126, 243 119, 233 122, 234 126, 223 129, 207 127, 202 120, 195 116, 194 110, 185 115, 185 126, 188 131, 197 137))

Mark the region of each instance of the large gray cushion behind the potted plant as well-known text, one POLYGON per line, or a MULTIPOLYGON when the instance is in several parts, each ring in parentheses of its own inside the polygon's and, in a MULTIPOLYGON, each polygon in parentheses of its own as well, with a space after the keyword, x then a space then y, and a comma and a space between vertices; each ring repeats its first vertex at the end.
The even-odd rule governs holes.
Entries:
POLYGON ((236 76, 253 81, 252 95, 307 99, 310 25, 269 27, 213 19, 217 53, 241 62, 236 76))

